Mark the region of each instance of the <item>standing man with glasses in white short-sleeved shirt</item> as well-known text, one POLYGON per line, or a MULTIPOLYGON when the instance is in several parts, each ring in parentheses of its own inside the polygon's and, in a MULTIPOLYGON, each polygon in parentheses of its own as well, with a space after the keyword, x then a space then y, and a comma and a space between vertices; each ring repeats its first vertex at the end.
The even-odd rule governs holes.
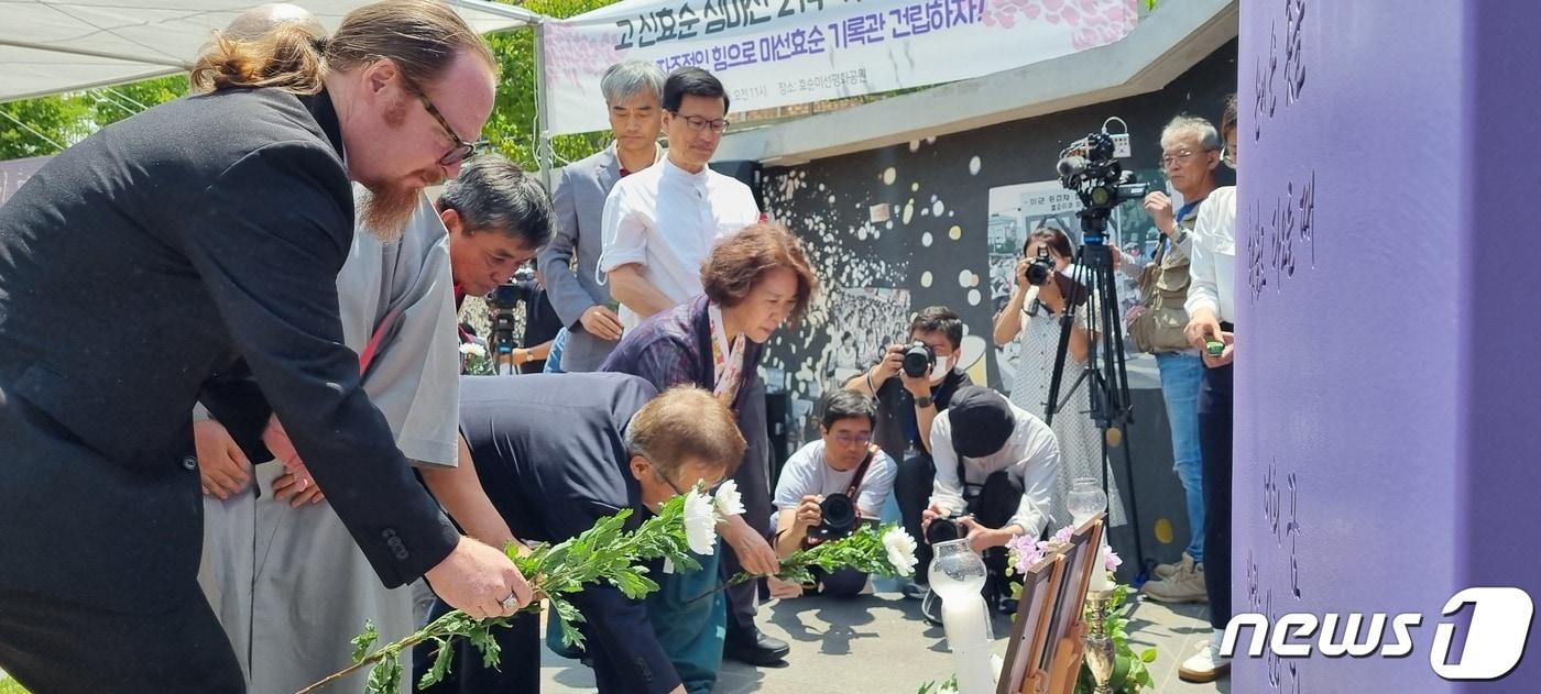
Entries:
POLYGON ((706 166, 727 129, 727 92, 701 68, 664 80, 663 162, 623 179, 604 203, 604 254, 621 323, 635 328, 701 294, 712 243, 760 220, 749 186, 706 166))

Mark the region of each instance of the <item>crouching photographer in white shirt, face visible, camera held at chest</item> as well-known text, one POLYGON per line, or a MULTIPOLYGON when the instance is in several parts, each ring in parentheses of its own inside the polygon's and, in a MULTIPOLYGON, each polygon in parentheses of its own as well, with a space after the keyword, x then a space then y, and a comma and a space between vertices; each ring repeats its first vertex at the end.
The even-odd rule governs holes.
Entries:
MULTIPOLYGON (((835 391, 820 425, 821 439, 794 452, 775 485, 770 523, 781 557, 846 537, 858 523, 877 523, 894 488, 894 459, 872 445, 877 408, 869 397, 835 391)), ((868 574, 815 568, 814 580, 826 596, 851 597, 866 588, 868 574)))

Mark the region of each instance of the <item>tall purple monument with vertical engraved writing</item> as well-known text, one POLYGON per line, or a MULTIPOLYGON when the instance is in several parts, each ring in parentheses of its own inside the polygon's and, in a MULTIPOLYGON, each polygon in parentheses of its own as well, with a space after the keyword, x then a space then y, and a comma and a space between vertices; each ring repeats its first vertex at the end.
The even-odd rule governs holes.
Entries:
POLYGON ((1541 654, 1430 665, 1462 588, 1541 597, 1541 3, 1241 17, 1234 608, 1422 622, 1401 659, 1237 657, 1231 691, 1541 691, 1541 654))

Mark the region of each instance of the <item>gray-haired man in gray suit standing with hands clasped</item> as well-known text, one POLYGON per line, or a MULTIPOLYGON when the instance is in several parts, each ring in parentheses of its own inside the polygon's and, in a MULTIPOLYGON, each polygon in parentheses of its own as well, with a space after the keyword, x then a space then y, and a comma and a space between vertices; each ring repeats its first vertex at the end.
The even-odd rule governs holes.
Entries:
POLYGON ((604 249, 599 219, 615 182, 663 157, 658 146, 663 89, 664 72, 655 63, 612 65, 599 80, 599 91, 610 111, 615 143, 559 172, 552 195, 556 237, 541 252, 541 269, 546 271, 546 294, 566 328, 556 337, 561 348, 552 351, 558 354, 559 349, 559 363, 549 362, 547 371, 595 371, 621 339, 621 319, 610 306, 610 289, 595 272, 604 249), (572 266, 575 251, 576 269, 572 266))

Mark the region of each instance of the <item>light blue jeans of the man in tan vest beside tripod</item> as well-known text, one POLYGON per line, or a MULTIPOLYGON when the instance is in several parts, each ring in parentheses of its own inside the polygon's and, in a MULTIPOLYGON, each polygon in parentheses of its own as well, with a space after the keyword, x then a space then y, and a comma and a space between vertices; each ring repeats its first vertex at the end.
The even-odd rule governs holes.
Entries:
POLYGON ((1204 463, 1199 454, 1199 383, 1204 362, 1196 354, 1167 352, 1156 355, 1160 369, 1160 395, 1167 400, 1171 422, 1171 459, 1182 489, 1188 497, 1188 556, 1204 562, 1204 463))

